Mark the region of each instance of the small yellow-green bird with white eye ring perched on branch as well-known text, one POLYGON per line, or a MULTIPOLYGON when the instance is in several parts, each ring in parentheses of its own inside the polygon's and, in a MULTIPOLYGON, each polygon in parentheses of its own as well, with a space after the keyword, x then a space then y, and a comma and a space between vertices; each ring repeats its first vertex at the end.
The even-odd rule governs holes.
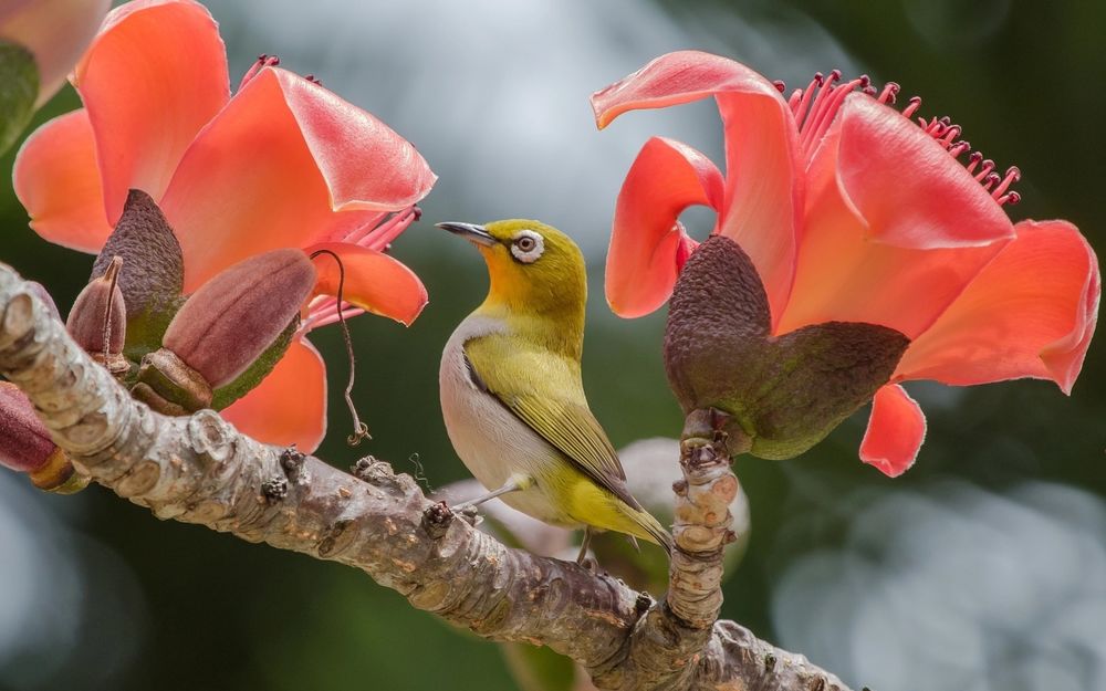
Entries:
POLYGON ((488 297, 441 354, 446 430, 493 498, 540 521, 640 537, 671 552, 671 536, 630 495, 614 447, 587 407, 580 375, 587 283, 566 234, 531 220, 438 223, 488 264, 488 297))

